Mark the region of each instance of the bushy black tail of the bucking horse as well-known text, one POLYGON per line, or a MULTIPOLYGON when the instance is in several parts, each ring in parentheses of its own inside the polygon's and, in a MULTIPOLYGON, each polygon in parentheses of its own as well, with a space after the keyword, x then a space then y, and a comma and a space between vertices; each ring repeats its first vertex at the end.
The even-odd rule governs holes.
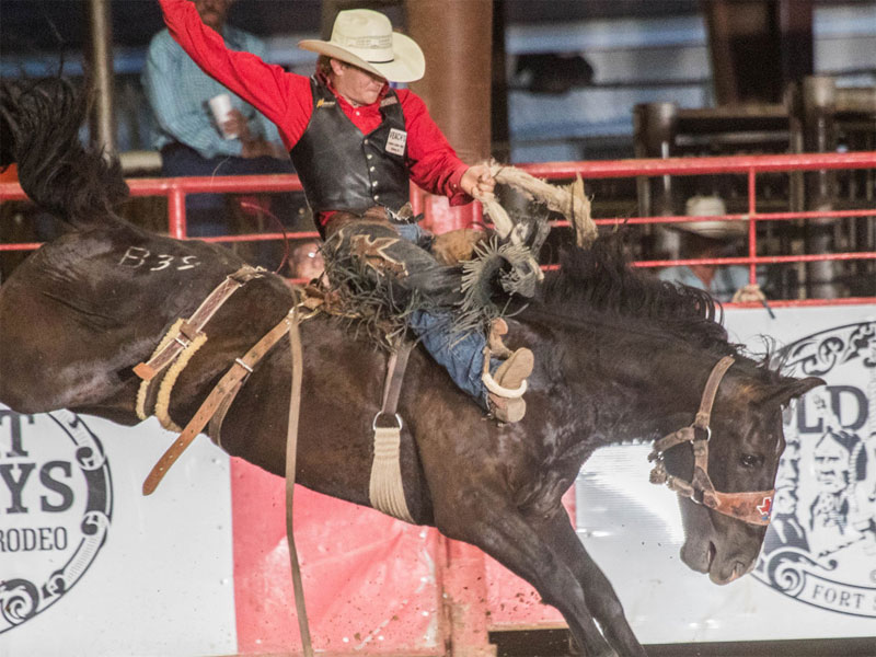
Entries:
POLYGON ((115 218, 129 194, 118 158, 79 139, 88 107, 61 78, 0 80, 0 163, 15 162, 31 200, 73 227, 115 218))

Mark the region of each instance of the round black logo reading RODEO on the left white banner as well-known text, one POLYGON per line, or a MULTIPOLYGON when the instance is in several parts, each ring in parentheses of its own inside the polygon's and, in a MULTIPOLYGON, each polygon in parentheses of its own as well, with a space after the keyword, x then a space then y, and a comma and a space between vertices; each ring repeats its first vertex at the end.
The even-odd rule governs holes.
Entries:
POLYGON ((79 416, 0 406, 0 634, 82 578, 106 541, 112 510, 110 463, 79 416))

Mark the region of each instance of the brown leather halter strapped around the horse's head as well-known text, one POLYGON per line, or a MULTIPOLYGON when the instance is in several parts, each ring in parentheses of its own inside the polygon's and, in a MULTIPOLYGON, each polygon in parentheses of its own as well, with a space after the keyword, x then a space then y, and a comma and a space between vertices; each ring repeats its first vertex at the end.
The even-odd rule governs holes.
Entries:
POLYGON ((712 405, 715 403, 721 380, 733 364, 733 357, 725 356, 712 369, 693 424, 654 443, 654 450, 648 456, 648 461, 655 461, 654 470, 650 471, 650 483, 666 484, 679 495, 737 520, 750 525, 769 525, 775 488, 751 493, 719 493, 715 491, 708 476, 708 440, 712 438, 708 423, 712 405), (690 442, 693 448, 693 477, 690 482, 669 474, 664 462, 664 454, 682 442, 690 442))

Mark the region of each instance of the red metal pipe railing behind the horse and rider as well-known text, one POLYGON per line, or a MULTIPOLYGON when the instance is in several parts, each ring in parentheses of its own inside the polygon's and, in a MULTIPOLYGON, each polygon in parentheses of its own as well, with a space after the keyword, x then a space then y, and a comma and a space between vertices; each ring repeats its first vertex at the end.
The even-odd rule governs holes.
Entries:
MULTIPOLYGON (((616 178, 664 175, 745 174, 748 177, 748 211, 721 217, 626 217, 597 219, 600 226, 618 223, 684 223, 703 220, 748 221, 748 255, 745 257, 696 258, 681 261, 646 261, 636 263, 642 267, 668 267, 687 264, 746 265, 749 278, 756 280, 758 265, 781 263, 806 263, 817 261, 876 260, 876 252, 848 252, 795 255, 757 255, 757 222, 788 221, 795 219, 823 219, 840 217, 876 216, 876 208, 853 210, 759 212, 757 209, 757 175, 772 172, 820 171, 829 169, 876 169, 876 151, 851 153, 810 153, 798 155, 731 155, 725 158, 670 158, 653 160, 609 160, 596 162, 552 162, 523 164, 521 169, 544 178, 616 178)), ((253 193, 299 192, 301 183, 295 175, 135 178, 128 181, 134 196, 165 196, 168 198, 169 232, 174 238, 186 237, 185 196, 193 193, 253 193)), ((26 198, 15 183, 0 183, 0 201, 26 198)), ((427 222, 442 230, 450 230, 482 220, 480 206, 449 210, 446 199, 433 197, 412 185, 412 205, 415 212, 424 212, 427 222)), ((293 233, 296 238, 316 237, 315 232, 293 233)), ((222 235, 206 238, 214 242, 239 242, 281 239, 280 233, 222 235)), ((26 251, 36 249, 36 243, 0 244, 0 251, 26 251)), ((876 297, 841 300, 775 301, 775 306, 808 303, 871 303, 876 297)))

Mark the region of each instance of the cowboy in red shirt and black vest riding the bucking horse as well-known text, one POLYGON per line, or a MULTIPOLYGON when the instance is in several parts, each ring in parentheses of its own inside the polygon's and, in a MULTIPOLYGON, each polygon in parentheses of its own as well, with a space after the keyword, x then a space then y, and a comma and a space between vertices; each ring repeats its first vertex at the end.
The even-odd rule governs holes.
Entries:
MULTIPOLYGON (((449 267, 417 246, 430 237, 404 211, 408 180, 451 205, 492 196, 495 181, 487 165, 460 161, 416 94, 390 88, 423 77, 419 46, 393 32, 380 12, 342 11, 330 41, 299 44, 320 55, 316 73, 306 78, 228 49, 188 0, 160 2, 170 33, 192 59, 277 125, 327 245, 358 249, 376 269, 406 280, 438 307, 459 303, 459 275, 446 285, 449 267)), ((523 417, 531 350, 486 358, 482 332, 460 337, 446 311, 417 310, 408 324, 485 410, 503 422, 523 417)))

